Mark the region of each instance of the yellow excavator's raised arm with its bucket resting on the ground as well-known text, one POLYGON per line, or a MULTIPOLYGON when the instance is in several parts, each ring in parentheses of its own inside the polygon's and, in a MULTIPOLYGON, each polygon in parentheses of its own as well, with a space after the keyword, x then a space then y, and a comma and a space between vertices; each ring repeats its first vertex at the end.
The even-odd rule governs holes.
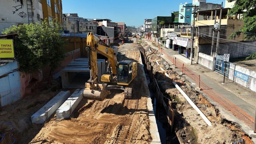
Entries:
POLYGON ((117 60, 115 51, 100 39, 94 37, 92 32, 87 35, 88 52, 88 68, 90 69, 90 79, 85 83, 84 97, 90 100, 104 100, 109 91, 105 84, 99 84, 98 66, 97 66, 97 52, 108 58, 112 68, 111 76, 117 74, 117 60))

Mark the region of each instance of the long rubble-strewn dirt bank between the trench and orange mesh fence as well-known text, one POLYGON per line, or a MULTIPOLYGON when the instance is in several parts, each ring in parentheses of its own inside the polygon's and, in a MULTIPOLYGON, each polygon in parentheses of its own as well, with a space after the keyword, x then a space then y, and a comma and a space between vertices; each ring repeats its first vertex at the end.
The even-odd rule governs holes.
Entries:
MULTIPOLYGON (((178 75, 174 69, 165 68, 166 61, 152 52, 152 48, 146 44, 141 44, 145 51, 147 65, 153 67, 153 74, 159 85, 160 91, 164 93, 173 103, 172 108, 175 109, 174 130, 182 138, 184 143, 234 143, 237 140, 246 138, 246 143, 252 142, 248 136, 239 128, 230 122, 225 121, 218 114, 218 110, 209 103, 204 97, 192 88, 191 83, 182 75, 178 75), (149 52, 149 50, 151 52, 149 52), (156 60, 160 65, 156 64, 156 60), (162 69, 161 69, 162 68, 162 69), (167 73, 169 77, 165 76, 167 73), (174 87, 172 81, 175 81, 181 89, 190 97, 205 116, 212 122, 213 126, 207 126, 199 114, 190 106, 180 92, 174 87)), ((149 68, 150 70, 150 68, 149 68)), ((149 88, 151 85, 149 85, 149 88)))

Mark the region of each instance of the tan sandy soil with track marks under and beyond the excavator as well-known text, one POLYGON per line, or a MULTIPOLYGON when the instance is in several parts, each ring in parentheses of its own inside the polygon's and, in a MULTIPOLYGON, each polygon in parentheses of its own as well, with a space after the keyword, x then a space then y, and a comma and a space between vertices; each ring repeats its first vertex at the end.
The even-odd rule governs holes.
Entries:
MULTIPOLYGON (((139 61, 137 46, 120 46, 118 59, 139 61)), ((103 101, 83 100, 72 118, 52 117, 31 143, 149 143, 148 86, 141 83, 144 78, 138 63, 132 100, 125 100, 122 91, 111 91, 103 101)))

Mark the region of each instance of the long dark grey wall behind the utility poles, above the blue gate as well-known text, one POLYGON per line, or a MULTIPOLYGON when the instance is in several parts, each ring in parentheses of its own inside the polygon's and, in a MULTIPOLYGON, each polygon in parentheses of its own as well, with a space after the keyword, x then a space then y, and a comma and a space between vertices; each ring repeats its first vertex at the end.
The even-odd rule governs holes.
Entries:
MULTIPOLYGON (((229 53, 230 59, 249 56, 252 53, 256 52, 256 50, 253 49, 253 46, 250 46, 248 44, 256 44, 256 41, 232 42, 232 44, 229 44, 229 43, 220 44, 219 53, 220 55, 224 55, 224 53, 229 53)), ((212 44, 200 44, 199 52, 211 55, 211 47, 212 47, 212 44)), ((216 51, 216 46, 213 46, 213 52, 215 51, 216 51)))

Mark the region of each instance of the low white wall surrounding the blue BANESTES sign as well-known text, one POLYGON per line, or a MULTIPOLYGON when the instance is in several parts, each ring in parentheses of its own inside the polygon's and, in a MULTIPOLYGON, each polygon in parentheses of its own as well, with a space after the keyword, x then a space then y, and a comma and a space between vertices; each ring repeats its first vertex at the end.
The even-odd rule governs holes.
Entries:
POLYGON ((234 80, 234 82, 241 84, 242 86, 252 90, 253 92, 256 92, 256 86, 255 86, 256 85, 256 71, 252 71, 250 69, 247 69, 247 68, 244 68, 241 66, 237 66, 237 65, 235 66, 235 64, 232 63, 230 65, 228 78, 231 80, 234 80), (248 82, 239 77, 234 76, 235 71, 249 76, 248 82))

